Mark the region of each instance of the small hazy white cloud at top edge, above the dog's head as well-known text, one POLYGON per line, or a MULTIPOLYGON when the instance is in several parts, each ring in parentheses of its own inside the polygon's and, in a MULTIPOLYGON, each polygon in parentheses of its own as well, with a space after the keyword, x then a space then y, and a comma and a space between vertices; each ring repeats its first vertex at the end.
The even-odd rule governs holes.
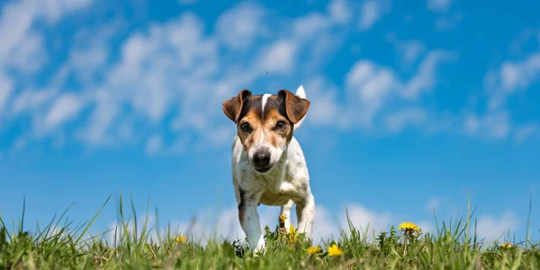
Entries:
POLYGON ((220 14, 217 36, 231 49, 247 49, 258 36, 266 35, 264 16, 265 9, 258 4, 238 4, 220 14))

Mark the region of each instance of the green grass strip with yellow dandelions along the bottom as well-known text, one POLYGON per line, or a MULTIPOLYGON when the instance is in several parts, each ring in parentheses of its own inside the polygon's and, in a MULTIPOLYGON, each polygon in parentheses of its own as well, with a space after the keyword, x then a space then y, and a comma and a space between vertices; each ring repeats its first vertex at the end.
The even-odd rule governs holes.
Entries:
POLYGON ((23 210, 11 234, 0 218, 0 269, 540 269, 540 245, 528 233, 523 243, 483 242, 470 207, 465 220, 442 222, 434 233, 392 227, 371 237, 349 221, 349 232, 314 243, 294 229, 266 228, 264 254, 249 252, 239 240, 211 238, 201 245, 173 233, 170 225, 164 231, 149 228, 148 210, 139 228, 130 221, 137 220, 132 201, 130 217, 123 208, 120 198, 119 229, 95 236, 88 231, 100 211, 81 226, 65 220, 64 211, 29 232, 23 210), (309 254, 309 247, 320 248, 309 254))

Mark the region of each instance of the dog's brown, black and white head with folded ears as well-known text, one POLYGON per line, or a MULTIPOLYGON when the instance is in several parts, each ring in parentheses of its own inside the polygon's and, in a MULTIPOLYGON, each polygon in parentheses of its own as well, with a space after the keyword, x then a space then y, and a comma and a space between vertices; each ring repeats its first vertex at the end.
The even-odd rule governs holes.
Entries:
POLYGON ((223 112, 236 123, 247 159, 259 174, 268 173, 279 161, 293 139, 294 125, 309 108, 310 101, 287 90, 252 95, 245 89, 223 103, 223 112))

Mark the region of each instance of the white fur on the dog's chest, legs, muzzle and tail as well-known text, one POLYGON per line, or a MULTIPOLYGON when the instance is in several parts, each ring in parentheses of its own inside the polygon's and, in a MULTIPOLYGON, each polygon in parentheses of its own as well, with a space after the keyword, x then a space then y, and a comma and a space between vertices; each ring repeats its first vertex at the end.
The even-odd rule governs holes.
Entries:
MULTIPOLYGON (((302 85, 297 90, 297 94, 305 97, 302 85)), ((264 102, 263 97, 263 104, 264 102)), ((298 126, 300 125, 295 125, 295 129, 298 126)), ((293 137, 284 149, 270 150, 271 163, 274 167, 266 174, 257 173, 247 158, 252 157, 257 147, 251 147, 254 149, 253 152, 250 149, 246 155, 238 135, 235 136, 231 161, 232 184, 238 202, 238 211, 240 202, 244 211, 244 219, 240 220, 240 224, 246 233, 249 247, 255 252, 262 251, 265 247, 263 229, 261 229, 257 211, 259 202, 281 206, 281 213, 287 217, 285 223, 287 229, 290 224, 291 208, 293 203, 296 203, 298 232, 305 232, 308 237, 311 236, 311 227, 315 218, 315 198, 311 193, 310 175, 298 141, 293 137), (243 198, 240 198, 240 189, 244 193, 243 198)))

